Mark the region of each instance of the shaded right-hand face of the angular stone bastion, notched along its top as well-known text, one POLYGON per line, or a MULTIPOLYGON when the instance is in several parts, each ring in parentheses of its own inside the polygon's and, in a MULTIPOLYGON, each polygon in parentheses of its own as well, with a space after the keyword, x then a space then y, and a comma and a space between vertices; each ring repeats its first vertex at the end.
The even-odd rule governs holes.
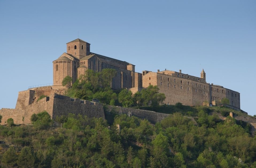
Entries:
POLYGON ((52 118, 55 119, 56 116, 68 115, 68 113, 87 115, 89 118, 102 117, 105 119, 102 104, 76 98, 74 99, 55 93, 53 96, 52 118))

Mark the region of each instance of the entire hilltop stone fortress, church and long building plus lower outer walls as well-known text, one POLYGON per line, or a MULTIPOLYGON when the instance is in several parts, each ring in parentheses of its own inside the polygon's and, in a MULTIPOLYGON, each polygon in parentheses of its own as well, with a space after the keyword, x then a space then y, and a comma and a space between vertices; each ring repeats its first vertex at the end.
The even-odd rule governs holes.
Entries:
MULTIPOLYGON (((88 117, 105 118, 103 105, 81 99, 64 96, 65 87, 62 81, 66 76, 72 78, 72 83, 84 75, 87 69, 100 72, 102 69, 111 68, 117 71, 117 75, 111 81, 111 88, 121 90, 127 88, 133 93, 145 89, 149 85, 156 85, 160 93, 164 93, 164 104, 175 105, 177 102, 183 105, 216 105, 223 98, 228 98, 232 109, 240 111, 240 93, 226 89, 219 85, 206 82, 206 73, 201 71, 200 77, 176 71, 142 71, 135 72, 135 65, 106 57, 90 51, 90 43, 81 39, 75 39, 67 43, 67 53, 63 53, 53 61, 53 86, 30 88, 20 91, 15 109, 0 109, 2 125, 8 118, 13 118, 15 124, 28 124, 34 113, 46 110, 53 119, 57 115, 68 113, 83 114, 88 117), (40 99, 41 95, 46 97, 40 99)), ((109 111, 115 109, 118 113, 135 115, 146 118, 155 123, 168 116, 168 114, 154 111, 130 109, 108 106, 109 111)))

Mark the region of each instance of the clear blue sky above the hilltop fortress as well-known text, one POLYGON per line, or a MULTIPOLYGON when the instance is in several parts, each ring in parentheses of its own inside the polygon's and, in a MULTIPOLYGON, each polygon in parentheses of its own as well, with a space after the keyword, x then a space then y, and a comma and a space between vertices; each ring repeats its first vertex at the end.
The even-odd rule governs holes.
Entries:
POLYGON ((241 94, 256 114, 256 1, 0 1, 0 108, 53 82, 52 61, 78 37, 135 71, 178 71, 241 94))

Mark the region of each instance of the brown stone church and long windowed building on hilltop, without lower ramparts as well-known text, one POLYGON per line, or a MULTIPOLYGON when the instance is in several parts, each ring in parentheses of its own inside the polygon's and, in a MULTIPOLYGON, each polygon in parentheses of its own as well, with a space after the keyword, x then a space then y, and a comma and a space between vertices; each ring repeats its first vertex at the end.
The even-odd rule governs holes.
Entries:
POLYGON ((240 93, 207 83, 204 70, 200 77, 183 74, 181 70, 138 73, 131 63, 92 53, 90 43, 81 39, 68 42, 67 53, 53 61, 53 85, 61 86, 66 76, 72 77, 75 82, 87 69, 99 72, 104 68, 117 71, 111 82, 113 89, 129 88, 134 93, 149 85, 157 85, 159 92, 166 96, 166 105, 175 105, 177 102, 188 106, 216 105, 216 102, 228 98, 231 108, 240 109, 240 93))

